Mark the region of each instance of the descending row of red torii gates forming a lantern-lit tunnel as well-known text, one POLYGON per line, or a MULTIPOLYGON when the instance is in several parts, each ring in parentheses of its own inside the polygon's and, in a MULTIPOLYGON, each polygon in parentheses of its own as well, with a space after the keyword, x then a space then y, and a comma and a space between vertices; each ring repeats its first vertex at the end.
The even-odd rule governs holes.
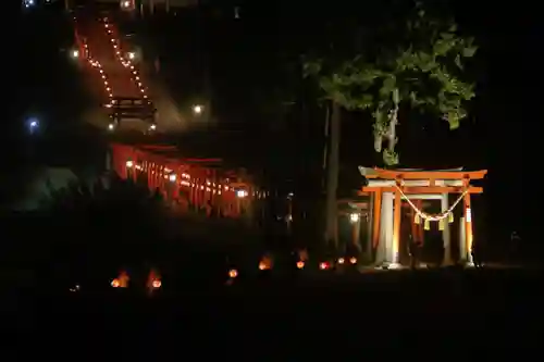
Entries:
POLYGON ((251 216, 251 201, 268 196, 248 182, 244 170, 223 170, 221 159, 182 159, 173 146, 113 143, 110 150, 108 170, 158 190, 166 202, 182 210, 251 216))

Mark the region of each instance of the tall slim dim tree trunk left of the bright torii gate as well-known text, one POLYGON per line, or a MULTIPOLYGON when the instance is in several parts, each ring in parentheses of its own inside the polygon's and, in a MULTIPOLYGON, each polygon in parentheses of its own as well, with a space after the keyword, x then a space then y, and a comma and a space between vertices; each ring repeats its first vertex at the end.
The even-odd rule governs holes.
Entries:
POLYGON ((341 141, 341 107, 337 102, 332 102, 331 110, 331 132, 329 137, 329 162, 326 168, 326 222, 325 242, 332 247, 338 246, 338 221, 336 192, 338 189, 339 172, 339 141, 341 141))

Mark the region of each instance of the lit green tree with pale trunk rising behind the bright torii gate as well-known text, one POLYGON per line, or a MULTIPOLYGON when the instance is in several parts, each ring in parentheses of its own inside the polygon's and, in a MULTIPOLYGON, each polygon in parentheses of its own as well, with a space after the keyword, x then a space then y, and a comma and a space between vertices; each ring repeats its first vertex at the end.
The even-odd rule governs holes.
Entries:
POLYGON ((421 4, 393 23, 364 32, 363 53, 304 60, 305 76, 317 79, 325 99, 372 112, 374 149, 387 165, 398 163, 400 107, 435 114, 452 129, 459 126, 467 116, 465 102, 474 97, 473 85, 461 79, 465 61, 477 51, 473 38, 462 36, 454 20, 430 15, 421 4))

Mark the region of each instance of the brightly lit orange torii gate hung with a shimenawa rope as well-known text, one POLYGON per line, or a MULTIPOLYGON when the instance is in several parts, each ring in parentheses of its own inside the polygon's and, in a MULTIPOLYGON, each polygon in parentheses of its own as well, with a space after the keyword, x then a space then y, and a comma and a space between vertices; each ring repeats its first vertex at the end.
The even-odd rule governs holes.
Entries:
POLYGON ((473 194, 482 194, 483 188, 471 185, 471 180, 483 179, 486 170, 383 170, 360 166, 359 172, 368 180, 360 194, 370 196, 370 240, 376 264, 390 267, 399 265, 401 210, 406 208, 411 219, 415 241, 422 242, 424 230, 429 230, 433 223, 438 224, 444 242, 444 264, 452 264, 450 226, 458 207, 462 208, 458 223, 458 261, 472 263, 473 215, 470 198, 473 194), (454 196, 453 200, 450 195, 454 196), (429 200, 440 201, 438 213, 424 211, 423 205, 431 202, 429 200))

